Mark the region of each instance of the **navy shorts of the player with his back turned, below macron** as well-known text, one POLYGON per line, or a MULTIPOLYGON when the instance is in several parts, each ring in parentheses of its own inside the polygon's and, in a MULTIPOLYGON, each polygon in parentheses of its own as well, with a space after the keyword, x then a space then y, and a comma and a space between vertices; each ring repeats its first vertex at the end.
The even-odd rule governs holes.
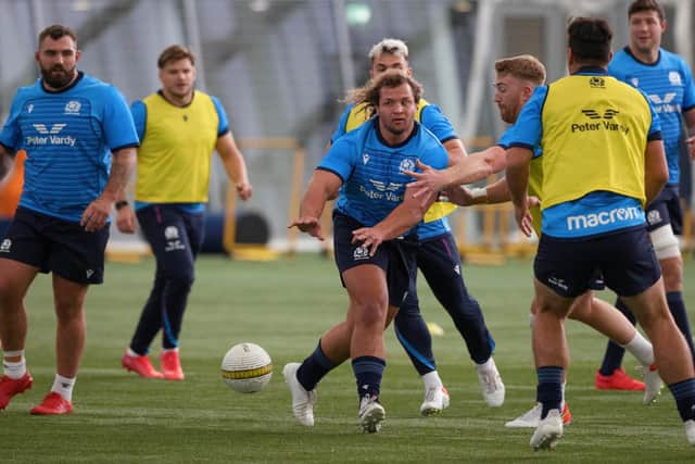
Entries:
POLYGON ((579 297, 593 288, 597 272, 620 297, 640 294, 661 276, 644 226, 580 239, 543 235, 533 272, 561 297, 579 297))

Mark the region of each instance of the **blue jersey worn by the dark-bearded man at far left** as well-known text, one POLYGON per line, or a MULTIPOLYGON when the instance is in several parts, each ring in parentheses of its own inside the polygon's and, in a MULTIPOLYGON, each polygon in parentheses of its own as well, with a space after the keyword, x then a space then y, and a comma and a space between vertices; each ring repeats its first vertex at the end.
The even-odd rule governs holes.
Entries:
POLYGON ((27 153, 20 206, 79 222, 106 185, 111 152, 139 141, 121 92, 80 72, 58 92, 41 79, 20 88, 0 143, 27 153))

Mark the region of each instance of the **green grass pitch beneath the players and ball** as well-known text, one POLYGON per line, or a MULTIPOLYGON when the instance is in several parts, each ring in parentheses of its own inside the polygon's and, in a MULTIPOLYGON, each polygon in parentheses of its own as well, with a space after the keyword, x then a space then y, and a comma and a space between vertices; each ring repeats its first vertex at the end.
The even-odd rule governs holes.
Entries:
MULTIPOLYGON (((50 278, 39 276, 27 298, 26 356, 34 388, 0 413, 0 462, 21 463, 442 463, 693 462, 673 400, 665 389, 652 406, 640 392, 593 388, 605 339, 567 324, 571 368, 567 400, 573 414, 554 452, 534 453, 530 429, 505 429, 535 398, 529 336, 531 262, 500 267, 465 265, 497 342, 495 361, 507 388, 503 407, 485 406, 463 340, 420 279, 427 321, 444 328, 434 337, 439 372, 452 404, 440 416, 420 417, 422 384, 393 330, 382 383, 382 431, 357 426, 357 396, 349 363, 318 386, 316 425, 298 425, 282 366, 303 360, 321 333, 345 313, 346 294, 331 261, 300 255, 270 263, 203 256, 189 300, 181 360, 186 380, 144 380, 121 367, 121 356, 149 293, 154 262, 109 263, 106 283, 87 299, 88 340, 75 387, 75 412, 62 417, 28 414, 54 375, 54 315, 50 278), (242 341, 273 356, 274 377, 261 393, 241 394, 220 377, 225 352, 242 341)), ((685 265, 685 301, 695 322, 695 265, 685 265), (688 288, 690 287, 690 288, 688 288)), ((599 294, 612 301, 609 292, 599 294)), ((159 358, 159 339, 153 346, 159 358)), ((634 359, 626 368, 636 375, 634 359)))

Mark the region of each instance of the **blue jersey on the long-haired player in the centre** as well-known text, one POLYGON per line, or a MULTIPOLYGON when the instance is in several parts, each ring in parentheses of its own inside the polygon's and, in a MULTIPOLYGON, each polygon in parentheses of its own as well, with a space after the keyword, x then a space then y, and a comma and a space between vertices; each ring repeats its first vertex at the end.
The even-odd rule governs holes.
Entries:
POLYGON ((406 141, 389 147, 375 117, 336 140, 317 168, 330 171, 343 181, 338 211, 371 227, 403 202, 406 184, 415 180, 403 171, 417 170, 417 160, 442 170, 448 155, 437 137, 417 122, 406 141))

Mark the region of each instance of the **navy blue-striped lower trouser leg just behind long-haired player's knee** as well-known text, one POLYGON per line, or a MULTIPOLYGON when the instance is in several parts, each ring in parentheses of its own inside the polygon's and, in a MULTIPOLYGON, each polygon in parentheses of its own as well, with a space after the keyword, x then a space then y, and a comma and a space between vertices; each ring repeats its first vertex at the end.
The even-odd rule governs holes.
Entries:
POLYGON ((424 376, 437 369, 432 353, 432 336, 417 306, 415 311, 402 313, 404 310, 406 308, 399 310, 393 321, 393 329, 415 369, 424 376))

